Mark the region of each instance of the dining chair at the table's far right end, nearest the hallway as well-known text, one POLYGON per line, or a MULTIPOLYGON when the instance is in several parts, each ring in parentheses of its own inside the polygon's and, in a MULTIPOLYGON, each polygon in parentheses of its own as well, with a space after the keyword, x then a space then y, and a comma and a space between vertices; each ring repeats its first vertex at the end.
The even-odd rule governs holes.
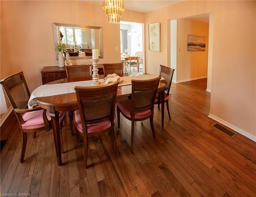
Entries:
POLYGON ((168 116, 169 116, 169 120, 171 119, 170 118, 170 111, 169 111, 169 93, 170 93, 170 85, 172 85, 172 80, 173 80, 173 76, 174 76, 174 71, 175 69, 171 69, 169 67, 165 67, 164 65, 160 65, 160 72, 159 72, 159 76, 163 77, 166 82, 167 82, 167 85, 164 89, 164 102, 161 103, 161 93, 159 93, 157 95, 157 98, 155 100, 155 104, 158 105, 158 109, 160 109, 160 103, 162 106, 162 123, 163 123, 163 119, 164 119, 164 116, 163 116, 163 110, 164 110, 164 103, 166 103, 166 108, 167 108, 167 112, 168 112, 168 116))

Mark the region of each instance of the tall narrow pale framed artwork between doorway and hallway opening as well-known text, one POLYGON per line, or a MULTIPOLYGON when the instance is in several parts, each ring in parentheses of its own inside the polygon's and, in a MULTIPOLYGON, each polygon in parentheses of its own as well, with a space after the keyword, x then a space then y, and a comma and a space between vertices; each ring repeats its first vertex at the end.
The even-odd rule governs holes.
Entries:
POLYGON ((148 25, 148 41, 151 51, 160 52, 160 23, 148 25))

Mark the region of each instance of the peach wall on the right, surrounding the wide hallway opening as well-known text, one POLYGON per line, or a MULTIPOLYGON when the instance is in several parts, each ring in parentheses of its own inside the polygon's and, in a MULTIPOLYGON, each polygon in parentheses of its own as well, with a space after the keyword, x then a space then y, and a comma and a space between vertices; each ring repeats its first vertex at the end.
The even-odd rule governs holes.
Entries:
MULTIPOLYGON (((253 1, 184 1, 145 14, 148 24, 161 23, 161 52, 146 50, 146 72, 167 65, 169 19, 212 13, 213 51, 210 113, 256 136, 255 4, 253 1)), ((145 42, 148 49, 148 42, 145 42)))

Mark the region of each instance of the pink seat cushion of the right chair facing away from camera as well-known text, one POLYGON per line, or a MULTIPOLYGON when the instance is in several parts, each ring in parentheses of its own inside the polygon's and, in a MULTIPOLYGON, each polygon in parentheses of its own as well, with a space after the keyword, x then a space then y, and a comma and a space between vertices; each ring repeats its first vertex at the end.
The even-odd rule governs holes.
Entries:
MULTIPOLYGON (((131 118, 132 100, 125 100, 117 102, 117 106, 120 108, 122 114, 131 118)), ((143 119, 151 115, 151 110, 143 110, 141 112, 135 112, 135 119, 143 119)))

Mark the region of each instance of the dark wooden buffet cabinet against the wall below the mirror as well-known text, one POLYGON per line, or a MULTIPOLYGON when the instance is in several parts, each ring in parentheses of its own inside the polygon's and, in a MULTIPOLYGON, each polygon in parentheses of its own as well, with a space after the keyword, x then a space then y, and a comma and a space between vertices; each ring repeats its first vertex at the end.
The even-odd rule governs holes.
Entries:
MULTIPOLYGON (((98 74, 104 75, 103 64, 98 64, 98 74)), ((58 79, 67 78, 66 69, 58 66, 44 67, 41 70, 42 84, 49 83, 58 79)))

